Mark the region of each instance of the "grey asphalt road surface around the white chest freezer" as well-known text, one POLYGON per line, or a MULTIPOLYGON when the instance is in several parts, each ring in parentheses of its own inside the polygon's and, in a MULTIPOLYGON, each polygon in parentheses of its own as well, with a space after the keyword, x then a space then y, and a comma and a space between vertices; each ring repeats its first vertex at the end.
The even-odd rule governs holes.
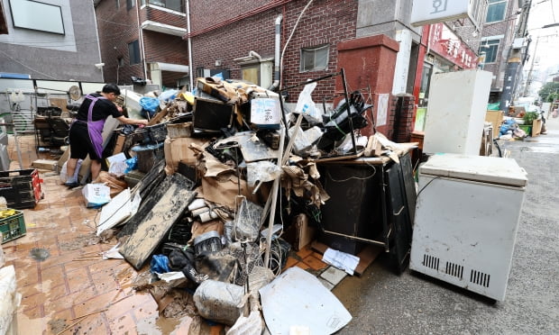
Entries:
POLYGON ((499 143, 528 173, 505 301, 397 276, 381 257, 334 288, 353 315, 339 334, 559 334, 559 118, 547 134, 499 143))

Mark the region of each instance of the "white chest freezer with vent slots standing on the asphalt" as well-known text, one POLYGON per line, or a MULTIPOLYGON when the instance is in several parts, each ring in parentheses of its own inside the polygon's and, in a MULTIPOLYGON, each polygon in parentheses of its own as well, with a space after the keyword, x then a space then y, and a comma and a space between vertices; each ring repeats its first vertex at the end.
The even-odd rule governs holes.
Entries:
POLYGON ((455 154, 418 171, 409 267, 503 301, 526 171, 511 158, 455 154))

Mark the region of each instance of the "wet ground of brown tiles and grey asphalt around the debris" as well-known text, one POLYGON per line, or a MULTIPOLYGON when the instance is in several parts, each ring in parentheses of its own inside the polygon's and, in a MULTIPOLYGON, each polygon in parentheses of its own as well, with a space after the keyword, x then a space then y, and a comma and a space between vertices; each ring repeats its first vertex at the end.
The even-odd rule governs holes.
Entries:
MULTIPOLYGON (((19 138, 23 168, 37 158, 33 137, 19 138)), ((14 138, 10 137, 10 148, 14 138)), ((559 333, 559 119, 535 138, 499 141, 529 174, 507 298, 491 303, 479 295, 405 271, 395 275, 380 257, 361 277, 346 277, 333 292, 352 313, 339 334, 556 334, 559 333)), ((11 169, 18 169, 10 153, 11 169)), ((2 245, 14 265, 22 303, 20 334, 209 334, 223 328, 196 316, 164 318, 147 292, 133 290, 139 273, 123 259, 102 260, 111 249, 95 236, 99 211, 87 209, 80 189, 61 186, 41 171, 44 198, 23 210, 27 234, 2 245)), ((289 258, 288 267, 324 268, 311 249, 289 258), (312 258, 312 259, 311 259, 312 258)))

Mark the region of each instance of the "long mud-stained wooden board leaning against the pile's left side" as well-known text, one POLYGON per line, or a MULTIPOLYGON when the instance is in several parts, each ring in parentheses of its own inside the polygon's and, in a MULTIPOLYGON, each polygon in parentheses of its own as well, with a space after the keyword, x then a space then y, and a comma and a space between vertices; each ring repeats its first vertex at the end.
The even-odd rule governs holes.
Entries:
POLYGON ((160 187, 163 190, 161 196, 155 196, 159 192, 151 195, 151 198, 156 199, 151 210, 136 213, 142 215, 142 220, 120 249, 120 253, 135 269, 142 268, 170 227, 179 220, 188 204, 194 200, 196 192, 189 191, 185 186, 189 183, 186 177, 179 174, 165 178, 162 183, 165 187, 160 187))

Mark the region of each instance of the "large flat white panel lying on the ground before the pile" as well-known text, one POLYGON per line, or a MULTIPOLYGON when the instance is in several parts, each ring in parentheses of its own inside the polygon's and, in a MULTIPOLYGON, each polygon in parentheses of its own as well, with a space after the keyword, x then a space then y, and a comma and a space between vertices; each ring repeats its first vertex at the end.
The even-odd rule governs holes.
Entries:
POLYGON ((290 267, 259 292, 266 325, 274 335, 289 335, 291 326, 332 334, 352 320, 335 295, 300 267, 290 267))

